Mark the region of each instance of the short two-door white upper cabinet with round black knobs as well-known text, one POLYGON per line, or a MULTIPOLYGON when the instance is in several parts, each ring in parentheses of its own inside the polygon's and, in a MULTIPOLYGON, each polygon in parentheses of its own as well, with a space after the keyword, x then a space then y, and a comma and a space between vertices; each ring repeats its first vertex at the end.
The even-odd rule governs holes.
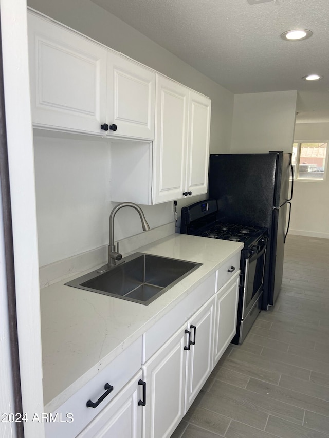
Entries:
POLYGON ((44 17, 28 20, 34 126, 154 139, 153 70, 44 17))

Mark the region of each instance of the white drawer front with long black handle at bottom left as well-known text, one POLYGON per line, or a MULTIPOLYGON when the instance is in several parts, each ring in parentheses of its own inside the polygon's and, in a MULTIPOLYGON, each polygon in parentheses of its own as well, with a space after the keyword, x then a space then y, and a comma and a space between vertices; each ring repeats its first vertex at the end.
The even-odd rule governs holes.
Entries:
POLYGON ((58 421, 46 423, 47 438, 58 438, 59 436, 74 438, 77 436, 140 369, 141 352, 142 340, 140 337, 54 411, 52 416, 57 415, 58 421), (106 392, 104 386, 107 383, 113 386, 113 390, 96 408, 87 407, 88 400, 95 403, 106 392), (73 418, 74 421, 65 422, 68 413, 71 414, 69 417, 73 418))

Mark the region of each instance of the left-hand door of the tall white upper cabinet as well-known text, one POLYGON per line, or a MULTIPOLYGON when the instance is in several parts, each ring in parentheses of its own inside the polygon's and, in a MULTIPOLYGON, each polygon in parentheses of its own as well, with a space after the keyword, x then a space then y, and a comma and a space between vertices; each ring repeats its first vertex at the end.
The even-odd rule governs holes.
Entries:
POLYGON ((153 203, 181 199, 185 191, 188 88, 157 75, 153 203))

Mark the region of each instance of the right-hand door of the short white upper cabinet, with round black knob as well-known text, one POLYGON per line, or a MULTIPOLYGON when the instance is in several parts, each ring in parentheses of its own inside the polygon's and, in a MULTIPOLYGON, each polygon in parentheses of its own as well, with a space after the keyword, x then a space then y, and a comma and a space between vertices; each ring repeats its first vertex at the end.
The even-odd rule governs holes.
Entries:
POLYGON ((155 72, 112 52, 107 71, 107 133, 154 140, 155 72))

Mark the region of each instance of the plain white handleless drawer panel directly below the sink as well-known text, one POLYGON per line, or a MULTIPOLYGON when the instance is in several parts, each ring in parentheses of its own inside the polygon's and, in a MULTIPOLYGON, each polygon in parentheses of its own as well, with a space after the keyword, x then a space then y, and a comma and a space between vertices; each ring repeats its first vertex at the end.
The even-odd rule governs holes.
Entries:
POLYGON ((215 283, 216 273, 213 273, 144 333, 143 363, 215 293, 215 283))

